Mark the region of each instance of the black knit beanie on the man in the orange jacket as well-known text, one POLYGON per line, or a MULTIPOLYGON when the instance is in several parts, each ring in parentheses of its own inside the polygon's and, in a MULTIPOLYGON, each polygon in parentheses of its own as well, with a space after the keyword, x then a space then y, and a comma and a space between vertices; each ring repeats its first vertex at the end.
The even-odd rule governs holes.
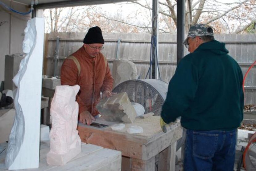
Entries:
POLYGON ((90 28, 88 30, 87 34, 85 35, 83 42, 85 44, 92 44, 92 43, 104 44, 104 39, 102 36, 101 28, 98 26, 90 28))

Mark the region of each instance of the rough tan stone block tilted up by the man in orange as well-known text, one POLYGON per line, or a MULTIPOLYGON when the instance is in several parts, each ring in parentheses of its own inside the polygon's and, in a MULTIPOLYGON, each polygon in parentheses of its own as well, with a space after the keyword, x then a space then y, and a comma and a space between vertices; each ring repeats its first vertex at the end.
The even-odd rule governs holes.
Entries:
POLYGON ((136 111, 126 92, 102 99, 96 108, 106 121, 133 123, 136 111))

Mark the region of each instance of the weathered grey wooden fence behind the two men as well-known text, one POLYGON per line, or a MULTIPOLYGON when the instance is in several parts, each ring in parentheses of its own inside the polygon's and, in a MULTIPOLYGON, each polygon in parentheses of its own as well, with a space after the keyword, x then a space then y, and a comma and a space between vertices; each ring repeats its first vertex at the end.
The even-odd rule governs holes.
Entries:
MULTIPOLYGON (((54 75, 56 39, 59 53, 56 76, 60 76, 63 60, 83 45, 85 33, 50 33, 45 35, 44 74, 54 75)), ((128 59, 137 66, 138 76, 144 79, 150 63, 150 34, 105 34, 102 53, 108 59, 110 69, 114 59, 128 59), (118 40, 120 40, 118 48, 118 40), (117 52, 119 53, 117 54, 117 52)), ((239 63, 243 74, 256 60, 256 35, 217 34, 215 39, 226 43, 229 54, 239 63)), ((186 50, 185 54, 188 51, 186 50)), ((176 34, 159 35, 159 70, 161 80, 169 82, 176 69, 176 34)), ((256 67, 252 68, 245 82, 246 104, 256 104, 256 67)))

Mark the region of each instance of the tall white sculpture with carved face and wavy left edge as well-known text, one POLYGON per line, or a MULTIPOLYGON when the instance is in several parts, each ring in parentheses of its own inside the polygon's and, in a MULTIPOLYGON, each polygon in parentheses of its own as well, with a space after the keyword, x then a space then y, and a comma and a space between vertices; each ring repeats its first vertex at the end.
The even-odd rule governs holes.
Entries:
POLYGON ((13 78, 18 88, 14 97, 16 114, 5 160, 9 170, 39 166, 44 19, 29 20, 24 32, 23 52, 27 55, 13 78))

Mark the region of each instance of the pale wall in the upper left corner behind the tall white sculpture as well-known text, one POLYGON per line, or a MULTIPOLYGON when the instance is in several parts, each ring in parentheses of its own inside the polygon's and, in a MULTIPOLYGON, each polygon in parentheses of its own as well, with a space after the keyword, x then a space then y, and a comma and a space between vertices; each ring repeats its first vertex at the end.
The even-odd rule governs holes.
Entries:
MULTIPOLYGON (((19 12, 29 11, 28 6, 21 3, 9 0, 1 0, 1 2, 19 12)), ((29 19, 31 19, 31 13, 20 15, 0 6, 0 23, 5 22, 0 26, 0 83, 4 81, 5 55, 22 52, 24 29, 29 19)))

